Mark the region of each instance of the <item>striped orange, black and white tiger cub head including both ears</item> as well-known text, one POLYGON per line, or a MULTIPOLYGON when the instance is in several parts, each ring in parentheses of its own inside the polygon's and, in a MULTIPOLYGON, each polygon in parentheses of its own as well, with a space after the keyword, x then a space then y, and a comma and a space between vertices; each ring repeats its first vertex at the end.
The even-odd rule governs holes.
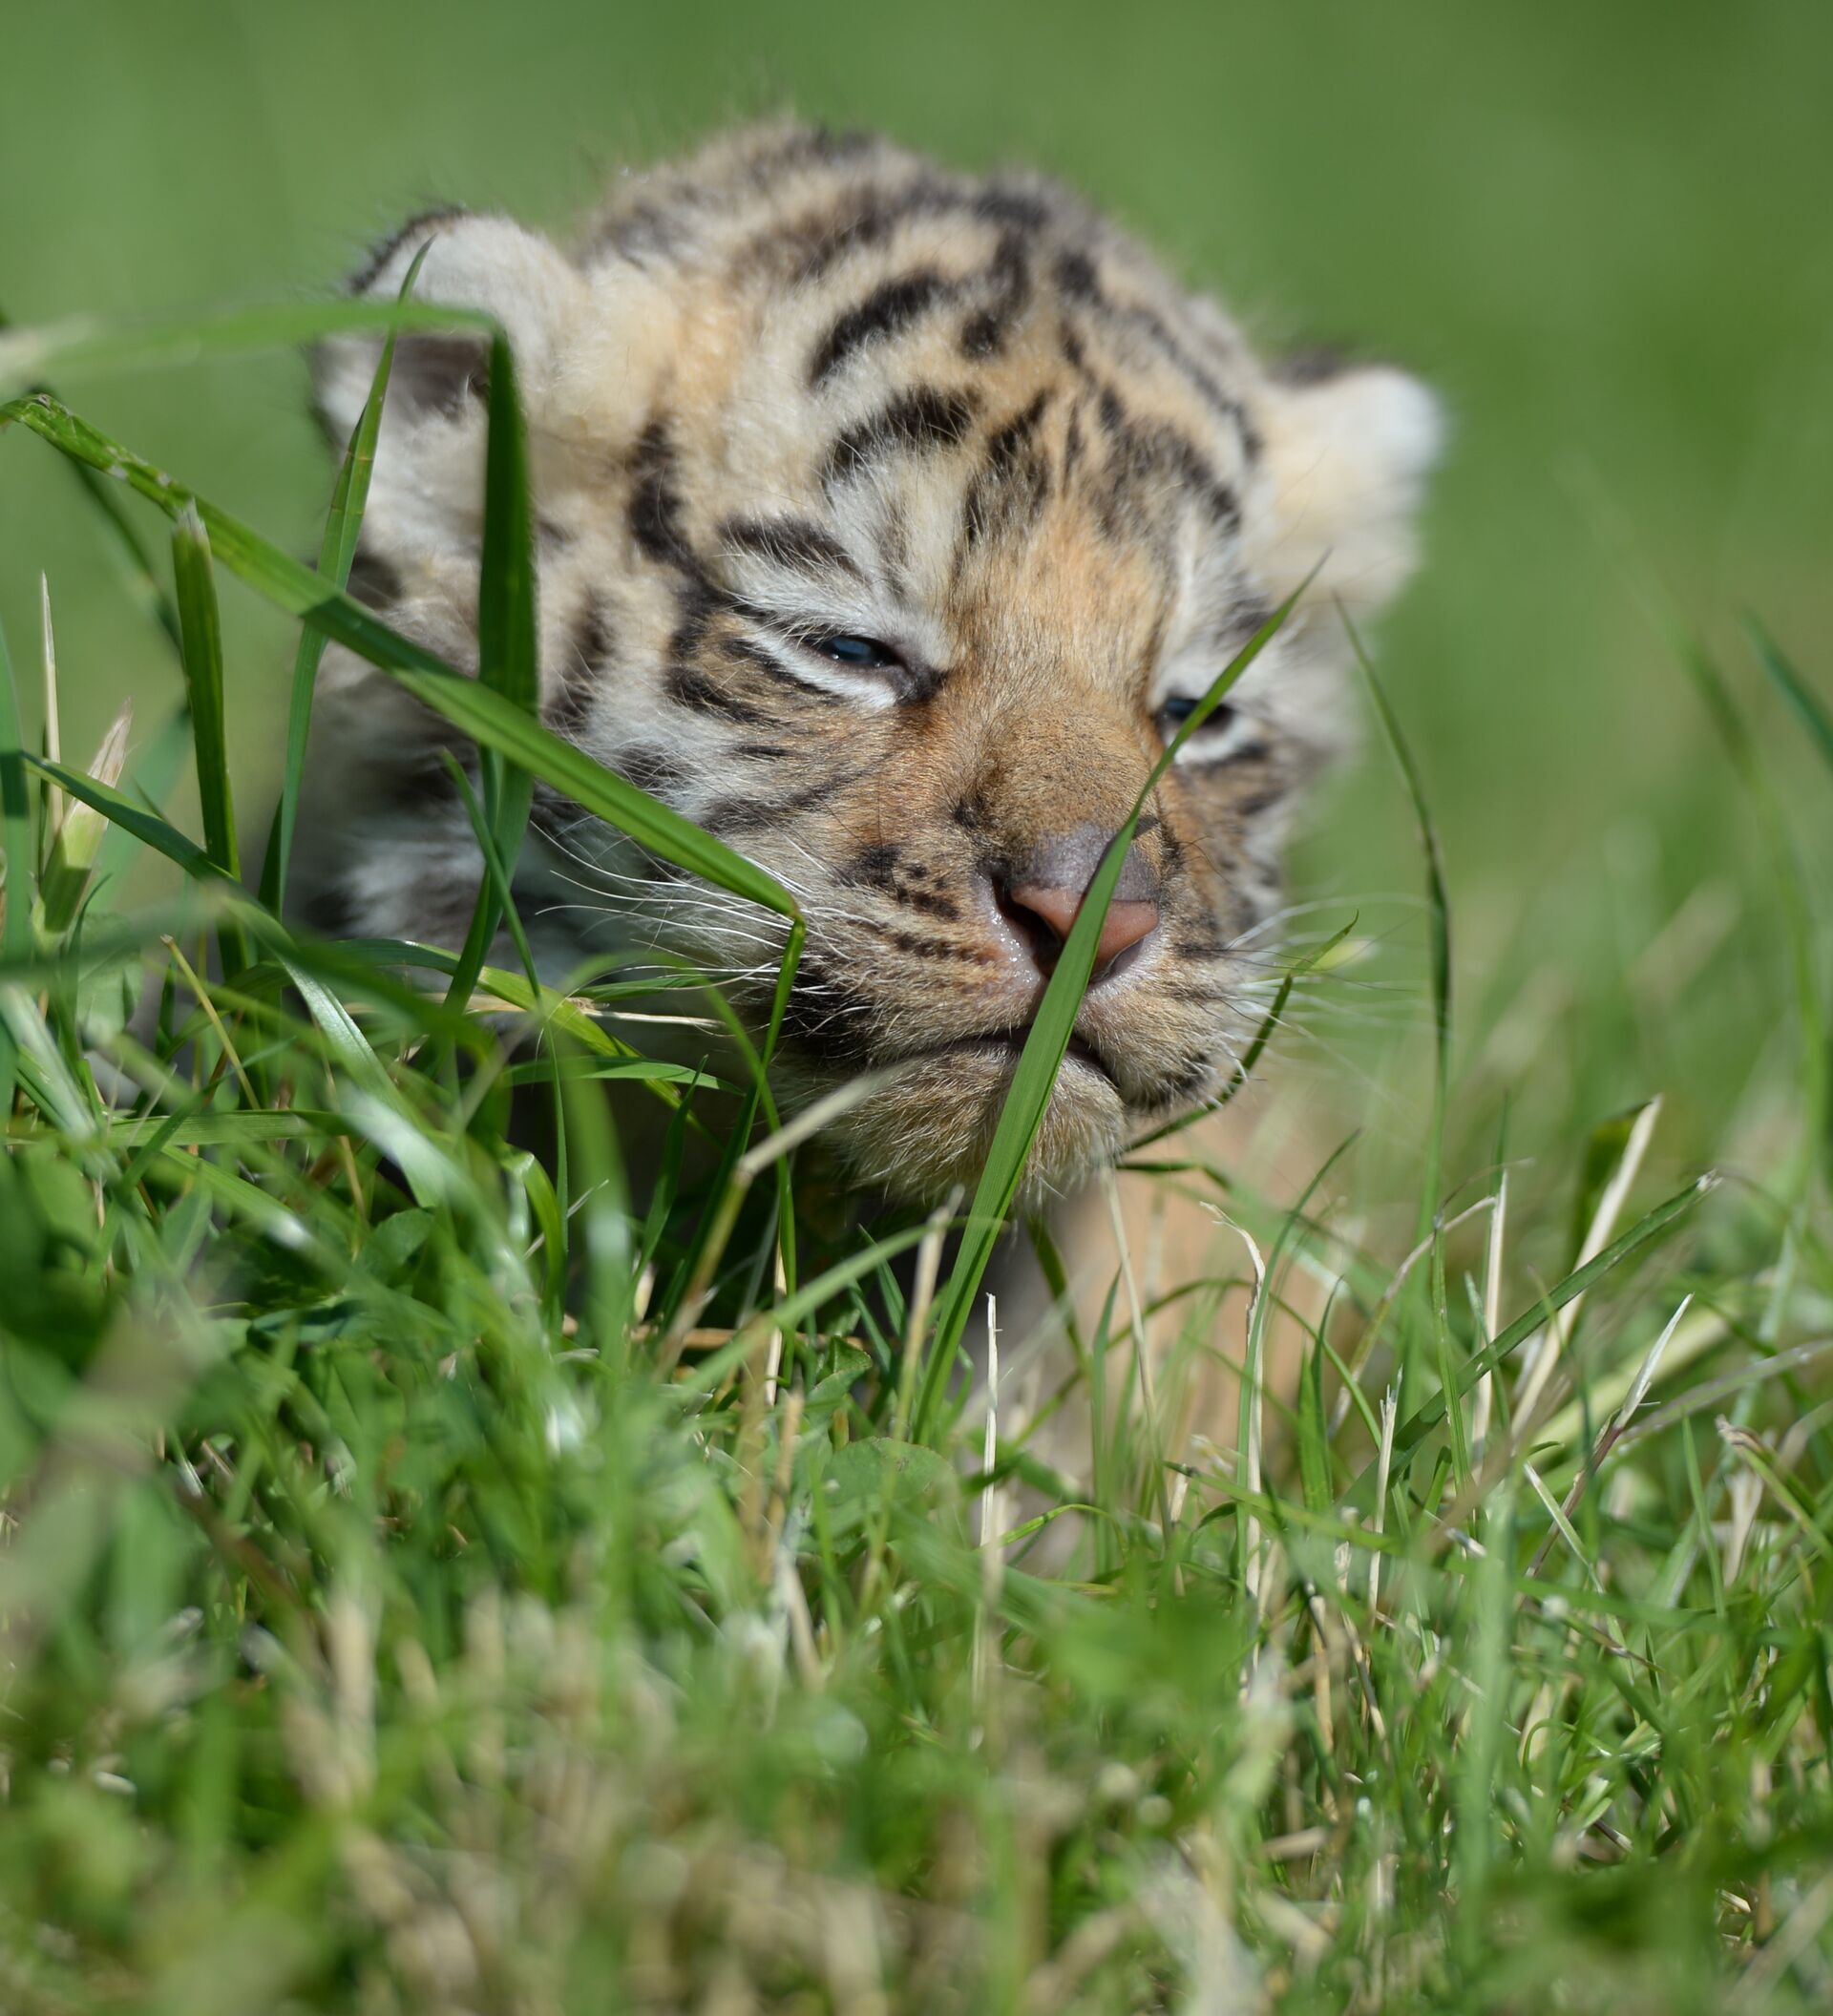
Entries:
MULTIPOLYGON (((359 286, 480 304, 522 369, 548 726, 780 877, 809 919, 807 1087, 887 1085, 867 1179, 974 1173, 1101 851, 1268 611, 1301 615, 1149 798, 1034 1151, 1061 1183, 1214 1093, 1256 1020, 1295 790, 1339 742, 1341 619, 1412 564, 1438 439, 1389 369, 1280 375, 1055 185, 766 129, 633 179, 569 256, 401 232, 359 286), (1252 956, 1250 956, 1252 954, 1252 956)), ((321 359, 333 435, 375 363, 321 359)), ((482 355, 403 339, 353 587, 474 663, 482 355)), ((462 935, 440 724, 333 659, 321 913, 462 935), (331 831, 335 827, 335 831, 331 831)), ((524 911, 768 1000, 780 925, 542 800, 524 911)), ((557 937, 563 935, 557 946, 557 937)))

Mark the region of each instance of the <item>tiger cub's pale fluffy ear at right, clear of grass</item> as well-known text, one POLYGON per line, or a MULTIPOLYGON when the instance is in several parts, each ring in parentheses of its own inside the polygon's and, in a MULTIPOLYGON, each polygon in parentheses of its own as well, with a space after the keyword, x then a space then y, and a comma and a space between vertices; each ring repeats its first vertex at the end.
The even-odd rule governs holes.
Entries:
POLYGON ((1260 419, 1266 581, 1289 595, 1323 562, 1307 601, 1323 593, 1371 615, 1418 562, 1414 520, 1444 448, 1444 409, 1393 365, 1307 361, 1274 369, 1260 419))

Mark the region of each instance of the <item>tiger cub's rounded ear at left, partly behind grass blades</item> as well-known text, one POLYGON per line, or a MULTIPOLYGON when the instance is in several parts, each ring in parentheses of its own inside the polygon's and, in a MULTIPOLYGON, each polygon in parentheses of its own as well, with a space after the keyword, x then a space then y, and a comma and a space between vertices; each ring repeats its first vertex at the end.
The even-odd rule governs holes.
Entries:
MULTIPOLYGON (((425 260, 413 298, 496 317, 514 349, 524 397, 530 409, 538 405, 587 298, 585 278, 538 232, 508 218, 444 210, 413 218, 377 246, 351 280, 351 294, 393 300, 421 246, 425 260)), ((339 448, 369 397, 381 341, 379 333, 365 331, 319 345, 317 409, 339 448)), ((403 331, 389 375, 391 427, 464 421, 480 411, 488 393, 488 339, 470 331, 403 331)))

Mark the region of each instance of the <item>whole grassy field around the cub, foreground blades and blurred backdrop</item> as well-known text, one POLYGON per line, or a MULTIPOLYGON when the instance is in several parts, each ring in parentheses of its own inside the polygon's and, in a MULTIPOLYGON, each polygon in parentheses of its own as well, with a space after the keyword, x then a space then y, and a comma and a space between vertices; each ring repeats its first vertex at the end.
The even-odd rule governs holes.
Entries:
POLYGON ((1827 18, 99 12, 0 75, 0 2008, 1827 2008, 1827 18), (1347 1147, 1297 1208, 1141 1157, 1264 1284, 1117 1282, 1061 1470, 954 1353, 1073 956, 944 1244, 835 1226, 615 974, 250 893, 337 635, 498 752, 498 853, 532 772, 788 903, 528 726, 510 371, 480 689, 327 585, 294 351, 427 196, 559 224, 782 99, 1073 173, 1458 415, 1418 796, 1371 724, 1301 859, 1353 958, 1250 1091, 1347 1147), (607 1083, 742 1159, 625 1169, 607 1083), (1244 1369, 1238 1454, 1145 1329, 1244 1369))

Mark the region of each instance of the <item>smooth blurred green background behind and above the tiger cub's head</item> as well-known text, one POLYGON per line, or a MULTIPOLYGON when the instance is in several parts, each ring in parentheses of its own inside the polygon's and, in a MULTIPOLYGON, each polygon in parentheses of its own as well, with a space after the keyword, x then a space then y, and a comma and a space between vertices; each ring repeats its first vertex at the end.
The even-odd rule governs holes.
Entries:
MULTIPOLYGON (((1428 571, 1383 665, 1444 827, 1478 1040, 1549 962, 1621 976, 1702 879, 1748 865, 1732 772, 1637 577, 1720 645, 1775 742, 1738 613, 1760 611, 1825 683, 1829 85, 1833 10, 1805 0, 12 0, 0 306, 40 321, 309 296, 442 200, 565 232, 619 161, 782 107, 1071 177, 1268 347, 1347 341, 1450 405, 1428 571)), ((296 357, 71 391, 315 550, 329 468, 296 357)), ((69 472, 14 433, 0 613, 26 669, 40 569, 67 742, 93 744, 125 691, 151 732, 175 669, 69 472)), ((284 623, 226 599, 246 816, 274 774, 290 649, 284 623)), ((1418 889, 1371 756, 1305 843, 1313 889, 1418 889)), ((1817 859, 1823 841, 1805 839, 1817 859)), ((1710 897, 1694 919, 1706 956, 1668 992, 1710 996, 1694 1075, 1720 1058, 1730 1081, 1777 1020, 1781 958, 1766 933, 1738 952, 1746 899, 1726 889, 1718 923, 1710 897)), ((1551 1026, 1531 1016, 1516 1048, 1533 1058, 1551 1026)), ((1595 1070, 1561 1068, 1593 1113, 1686 1077, 1641 1038, 1591 1050, 1595 1070)))

